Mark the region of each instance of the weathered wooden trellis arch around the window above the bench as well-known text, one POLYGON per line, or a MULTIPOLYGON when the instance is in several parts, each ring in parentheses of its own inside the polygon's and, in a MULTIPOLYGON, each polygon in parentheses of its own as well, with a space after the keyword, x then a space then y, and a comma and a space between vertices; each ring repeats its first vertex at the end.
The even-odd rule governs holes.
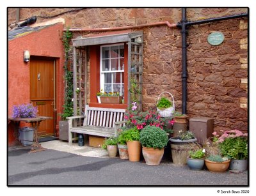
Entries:
POLYGON ((128 44, 128 100, 142 109, 143 84, 143 31, 109 36, 77 38, 73 42, 74 116, 84 114, 88 94, 88 46, 127 42, 128 44), (79 88, 79 89, 77 89, 79 88))

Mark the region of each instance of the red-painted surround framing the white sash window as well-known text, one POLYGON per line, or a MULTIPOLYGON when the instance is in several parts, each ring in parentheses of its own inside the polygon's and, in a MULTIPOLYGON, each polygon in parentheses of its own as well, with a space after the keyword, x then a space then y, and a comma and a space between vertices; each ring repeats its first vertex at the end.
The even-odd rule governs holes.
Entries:
POLYGON ((100 46, 90 46, 90 107, 127 109, 128 94, 128 45, 124 43, 124 104, 98 103, 97 92, 100 91, 100 46))

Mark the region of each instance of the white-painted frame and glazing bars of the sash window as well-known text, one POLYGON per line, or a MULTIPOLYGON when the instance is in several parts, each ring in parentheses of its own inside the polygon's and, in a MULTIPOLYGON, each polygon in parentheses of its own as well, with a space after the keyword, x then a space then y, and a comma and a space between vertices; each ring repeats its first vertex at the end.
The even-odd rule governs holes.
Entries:
MULTIPOLYGON (((120 73, 120 83, 115 83, 115 84, 120 84, 120 95, 124 96, 124 92, 122 92, 122 81, 124 82, 124 79, 122 79, 122 73, 124 70, 108 70, 108 71, 103 71, 102 70, 102 60, 109 59, 109 68, 111 68, 111 59, 118 59, 118 68, 120 68, 120 59, 125 59, 125 57, 114 57, 111 58, 111 47, 113 46, 119 46, 118 47, 118 54, 120 54, 120 46, 124 46, 124 43, 117 43, 117 44, 111 44, 111 45, 102 45, 100 46, 100 89, 104 92, 104 73, 120 73), (109 58, 102 58, 102 49, 109 47, 109 58)), ((110 83, 109 83, 110 84, 110 83)), ((111 76, 111 91, 113 92, 113 75, 111 76)))

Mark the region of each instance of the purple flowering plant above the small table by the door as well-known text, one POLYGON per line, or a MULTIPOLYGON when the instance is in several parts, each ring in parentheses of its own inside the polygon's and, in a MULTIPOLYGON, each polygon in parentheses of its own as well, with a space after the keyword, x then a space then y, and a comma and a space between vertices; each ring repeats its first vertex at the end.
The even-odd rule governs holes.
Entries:
POLYGON ((32 103, 14 105, 13 114, 14 118, 24 118, 24 117, 36 117, 37 107, 34 107, 32 103))

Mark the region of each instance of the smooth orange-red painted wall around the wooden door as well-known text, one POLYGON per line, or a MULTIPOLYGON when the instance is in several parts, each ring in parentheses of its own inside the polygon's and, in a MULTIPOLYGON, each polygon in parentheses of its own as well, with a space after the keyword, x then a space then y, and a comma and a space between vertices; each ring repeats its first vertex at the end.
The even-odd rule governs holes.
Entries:
MULTIPOLYGON (((12 115, 13 105, 30 101, 29 63, 23 61, 24 50, 29 50, 31 56, 56 57, 56 108, 58 113, 61 112, 63 105, 62 32, 63 24, 56 24, 8 41, 8 116, 12 115)), ((12 126, 8 126, 8 131, 10 136, 8 144, 12 145, 12 126)))

